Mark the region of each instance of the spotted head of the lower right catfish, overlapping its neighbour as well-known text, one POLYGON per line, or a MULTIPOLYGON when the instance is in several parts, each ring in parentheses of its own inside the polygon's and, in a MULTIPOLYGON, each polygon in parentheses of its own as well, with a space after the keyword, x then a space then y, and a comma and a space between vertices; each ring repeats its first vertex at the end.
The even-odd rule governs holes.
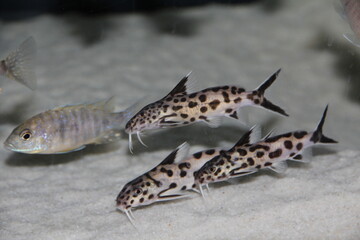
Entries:
POLYGON ((218 155, 207 161, 198 171, 194 173, 195 183, 197 185, 206 185, 213 182, 225 180, 226 174, 226 158, 218 155))

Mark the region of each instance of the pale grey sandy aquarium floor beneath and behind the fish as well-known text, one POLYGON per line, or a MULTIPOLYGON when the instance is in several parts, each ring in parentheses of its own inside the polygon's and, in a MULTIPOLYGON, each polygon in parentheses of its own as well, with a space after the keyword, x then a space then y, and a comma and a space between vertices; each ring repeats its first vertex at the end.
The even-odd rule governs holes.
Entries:
POLYGON ((0 141, 28 117, 66 104, 116 97, 117 110, 155 100, 192 71, 194 88, 256 88, 282 68, 266 96, 289 118, 249 109, 264 134, 312 130, 329 104, 324 133, 339 141, 283 175, 261 171, 199 195, 136 209, 136 230, 115 211, 128 181, 184 141, 190 152, 229 147, 246 131, 224 119, 150 131, 128 150, 120 142, 62 155, 0 149, 0 239, 359 239, 360 49, 327 0, 209 5, 152 14, 39 16, 0 24, 1 53, 32 35, 38 89, 2 80, 0 141))

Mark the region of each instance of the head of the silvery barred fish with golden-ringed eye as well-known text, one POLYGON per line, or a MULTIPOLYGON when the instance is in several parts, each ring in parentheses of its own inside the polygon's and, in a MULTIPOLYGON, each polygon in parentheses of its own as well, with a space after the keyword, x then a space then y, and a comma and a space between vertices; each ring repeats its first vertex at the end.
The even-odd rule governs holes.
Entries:
POLYGON ((47 149, 46 129, 41 128, 35 119, 29 119, 16 127, 5 140, 6 149, 22 153, 40 153, 47 149))

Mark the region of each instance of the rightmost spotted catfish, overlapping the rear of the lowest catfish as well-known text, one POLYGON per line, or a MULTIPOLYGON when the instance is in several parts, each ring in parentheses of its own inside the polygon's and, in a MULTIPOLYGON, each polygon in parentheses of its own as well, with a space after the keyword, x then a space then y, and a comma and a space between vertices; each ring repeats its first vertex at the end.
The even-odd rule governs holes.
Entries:
POLYGON ((286 170, 286 160, 306 162, 305 149, 319 143, 337 143, 322 133, 326 112, 327 107, 313 132, 289 132, 253 142, 250 139, 254 129, 251 129, 234 147, 222 151, 194 173, 196 185, 201 188, 212 182, 251 174, 261 168, 280 173, 286 170))

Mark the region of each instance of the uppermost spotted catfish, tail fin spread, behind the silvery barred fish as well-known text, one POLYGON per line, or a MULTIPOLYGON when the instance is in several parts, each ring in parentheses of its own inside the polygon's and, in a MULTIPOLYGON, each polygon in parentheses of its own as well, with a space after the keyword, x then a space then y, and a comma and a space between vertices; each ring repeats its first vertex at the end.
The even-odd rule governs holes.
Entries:
POLYGON ((237 86, 219 86, 188 94, 188 76, 162 99, 148 104, 135 114, 126 124, 129 134, 129 147, 132 149, 132 134, 144 130, 170 128, 203 121, 210 126, 219 124, 219 117, 239 118, 238 109, 244 106, 258 106, 284 116, 288 114, 279 106, 264 97, 265 90, 276 80, 280 69, 253 91, 245 91, 237 86))

